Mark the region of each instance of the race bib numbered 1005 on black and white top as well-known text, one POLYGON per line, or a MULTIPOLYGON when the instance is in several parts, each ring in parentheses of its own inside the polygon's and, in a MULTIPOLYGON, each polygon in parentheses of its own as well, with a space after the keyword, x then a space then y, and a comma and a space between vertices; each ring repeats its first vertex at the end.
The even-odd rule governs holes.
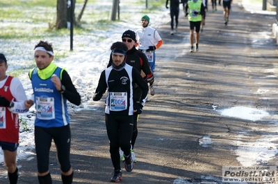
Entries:
POLYGON ((124 111, 127 109, 126 92, 110 92, 110 110, 124 111))

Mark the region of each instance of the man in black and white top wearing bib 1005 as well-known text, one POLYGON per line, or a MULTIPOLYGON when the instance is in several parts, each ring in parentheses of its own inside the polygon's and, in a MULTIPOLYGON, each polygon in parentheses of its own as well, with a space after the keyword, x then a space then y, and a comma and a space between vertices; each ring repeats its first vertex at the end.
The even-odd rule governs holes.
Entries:
POLYGON ((107 89, 105 122, 110 142, 109 151, 114 166, 110 181, 119 182, 122 180, 119 149, 124 151, 126 171, 131 172, 133 159, 130 140, 133 134, 133 114, 142 113, 149 87, 142 79, 140 72, 124 62, 127 50, 125 44, 115 42, 111 50, 113 64, 101 73, 93 100, 100 100, 107 89), (133 89, 136 84, 142 89, 142 96, 136 104, 133 104, 133 89))

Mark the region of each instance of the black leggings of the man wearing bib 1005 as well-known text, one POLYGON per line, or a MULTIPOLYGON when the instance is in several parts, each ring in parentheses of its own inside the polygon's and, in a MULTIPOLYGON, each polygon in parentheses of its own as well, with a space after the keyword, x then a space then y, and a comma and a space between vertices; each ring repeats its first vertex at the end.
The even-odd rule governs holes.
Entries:
POLYGON ((118 116, 106 113, 105 123, 110 142, 109 151, 114 169, 121 169, 119 148, 124 151, 125 156, 129 156, 133 131, 133 116, 118 116))

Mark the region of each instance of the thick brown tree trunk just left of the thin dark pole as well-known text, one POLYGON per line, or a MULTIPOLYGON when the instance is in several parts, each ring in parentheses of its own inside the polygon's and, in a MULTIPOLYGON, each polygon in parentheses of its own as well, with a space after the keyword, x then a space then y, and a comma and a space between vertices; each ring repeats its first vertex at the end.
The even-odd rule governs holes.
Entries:
POLYGON ((57 0, 56 29, 67 28, 67 0, 57 0))

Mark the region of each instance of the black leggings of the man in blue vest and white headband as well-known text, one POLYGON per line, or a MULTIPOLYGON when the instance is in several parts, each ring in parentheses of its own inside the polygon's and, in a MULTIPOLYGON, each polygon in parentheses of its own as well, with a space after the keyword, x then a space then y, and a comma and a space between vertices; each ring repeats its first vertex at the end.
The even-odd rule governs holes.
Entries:
POLYGON ((70 171, 70 125, 65 127, 35 127, 35 151, 37 153, 38 172, 49 170, 49 150, 54 139, 57 158, 62 172, 70 171))

